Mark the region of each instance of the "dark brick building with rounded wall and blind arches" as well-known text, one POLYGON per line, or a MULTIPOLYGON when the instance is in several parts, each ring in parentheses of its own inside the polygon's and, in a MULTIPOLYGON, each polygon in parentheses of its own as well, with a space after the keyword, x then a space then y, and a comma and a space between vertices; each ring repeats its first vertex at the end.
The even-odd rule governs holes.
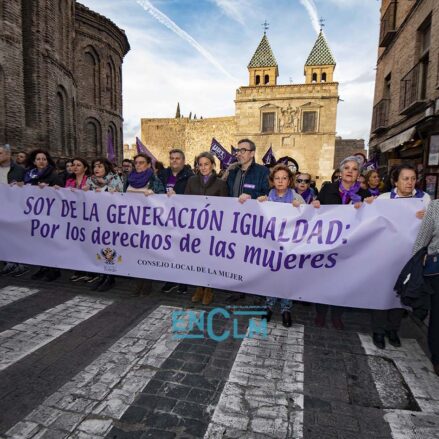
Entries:
POLYGON ((0 0, 0 143, 54 157, 123 155, 127 37, 74 0, 0 0))

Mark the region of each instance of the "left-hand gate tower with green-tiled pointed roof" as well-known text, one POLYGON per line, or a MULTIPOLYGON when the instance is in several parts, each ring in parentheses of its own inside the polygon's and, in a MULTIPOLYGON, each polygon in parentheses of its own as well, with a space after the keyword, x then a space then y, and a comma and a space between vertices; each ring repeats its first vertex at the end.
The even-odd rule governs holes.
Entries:
POLYGON ((277 85, 279 76, 277 61, 265 32, 247 68, 250 87, 277 85))

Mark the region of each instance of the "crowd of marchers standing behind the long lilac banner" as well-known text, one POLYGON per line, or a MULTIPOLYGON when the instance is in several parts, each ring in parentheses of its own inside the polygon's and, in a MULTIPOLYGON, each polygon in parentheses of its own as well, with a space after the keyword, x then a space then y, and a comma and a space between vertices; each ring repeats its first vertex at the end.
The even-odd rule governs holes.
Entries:
MULTIPOLYGON (((48 151, 36 149, 29 154, 19 151, 12 160, 9 145, 0 145, 0 183, 17 185, 38 185, 40 187, 60 187, 71 190, 94 192, 132 192, 139 195, 154 194, 208 195, 234 197, 240 203, 255 199, 259 202, 281 202, 293 206, 309 204, 314 208, 321 205, 352 204, 360 208, 363 202, 373 203, 378 199, 420 198, 424 208, 416 213, 413 221, 423 220, 416 239, 414 252, 428 246, 428 254, 439 254, 439 201, 430 202, 428 194, 417 187, 417 171, 410 164, 402 164, 393 170, 391 187, 385 188, 377 170, 362 172, 362 163, 357 156, 350 156, 340 163, 332 175, 331 182, 325 182, 320 192, 312 184, 312 176, 307 172, 296 172, 284 164, 273 167, 260 165, 255 161, 256 145, 249 139, 242 139, 236 148, 237 161, 226 170, 217 173, 215 158, 210 152, 201 153, 195 160, 194 169, 186 164, 181 149, 169 152, 169 166, 152 163, 147 154, 137 154, 133 160, 123 160, 116 167, 107 158, 95 158, 91 163, 82 157, 71 160, 58 160, 55 163, 48 151)), ((21 277, 29 267, 15 262, 5 262, 0 272, 2 276, 21 277)), ((31 279, 54 281, 60 276, 56 268, 40 267, 31 275, 31 279)), ((84 282, 91 290, 108 291, 116 282, 115 276, 75 271, 71 282, 84 282)), ((434 290, 430 307, 429 346, 435 372, 439 375, 439 275, 429 279, 434 290)), ((135 294, 146 294, 151 288, 148 280, 140 279, 135 294)), ((165 282, 161 291, 173 290, 186 293, 187 285, 165 282)), ((235 300, 244 294, 236 294, 235 300)), ((192 302, 209 305, 214 300, 211 288, 196 286, 192 302)), ((293 302, 288 299, 265 299, 266 319, 272 317, 276 303, 280 302, 282 323, 285 327, 292 324, 291 308, 293 302)), ((343 308, 324 304, 316 305, 315 324, 326 325, 328 312, 334 328, 344 329, 343 308)), ((384 349, 388 342, 399 347, 401 341, 398 331, 404 310, 373 310, 371 312, 373 342, 384 349)))

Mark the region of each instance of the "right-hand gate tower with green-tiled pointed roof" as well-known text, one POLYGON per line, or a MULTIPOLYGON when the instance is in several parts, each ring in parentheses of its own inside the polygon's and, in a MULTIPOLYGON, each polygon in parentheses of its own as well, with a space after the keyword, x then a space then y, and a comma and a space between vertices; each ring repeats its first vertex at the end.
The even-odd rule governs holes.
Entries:
POLYGON ((333 82, 335 59, 320 29, 317 41, 305 63, 305 84, 333 82))

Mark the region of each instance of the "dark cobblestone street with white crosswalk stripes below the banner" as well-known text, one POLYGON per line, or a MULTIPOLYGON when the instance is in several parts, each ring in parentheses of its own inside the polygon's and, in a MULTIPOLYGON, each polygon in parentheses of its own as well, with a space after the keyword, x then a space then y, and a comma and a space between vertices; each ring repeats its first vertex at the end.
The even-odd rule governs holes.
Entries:
MULTIPOLYGON (((439 438, 439 379, 410 317, 402 347, 384 351, 366 311, 346 311, 336 331, 300 303, 293 326, 275 313, 266 338, 176 338, 174 311, 208 309, 192 288, 153 282, 136 297, 135 281, 118 279, 98 294, 68 275, 0 279, 1 438, 439 438)), ((216 292, 210 308, 230 297, 216 292)), ((247 327, 214 319, 216 334, 247 327)))

